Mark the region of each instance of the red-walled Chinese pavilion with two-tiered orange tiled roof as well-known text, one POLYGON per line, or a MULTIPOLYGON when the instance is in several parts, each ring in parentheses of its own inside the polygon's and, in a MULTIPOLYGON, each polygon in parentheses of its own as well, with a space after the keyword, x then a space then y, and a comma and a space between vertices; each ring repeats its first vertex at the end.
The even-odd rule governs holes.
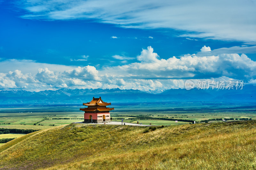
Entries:
POLYGON ((100 98, 94 98, 92 101, 88 103, 83 103, 83 105, 88 106, 85 108, 80 108, 80 110, 84 111, 84 123, 86 122, 94 122, 101 123, 110 121, 110 110, 114 110, 114 108, 106 107, 111 105, 111 103, 106 103, 100 98))

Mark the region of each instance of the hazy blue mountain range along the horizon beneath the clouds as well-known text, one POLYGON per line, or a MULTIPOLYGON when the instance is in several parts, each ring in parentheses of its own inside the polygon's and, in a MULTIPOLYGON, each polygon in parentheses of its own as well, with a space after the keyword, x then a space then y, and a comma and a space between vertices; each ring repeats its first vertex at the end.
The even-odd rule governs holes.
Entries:
POLYGON ((115 89, 67 89, 29 92, 26 90, 0 91, 1 104, 76 104, 101 97, 103 101, 159 102, 159 101, 239 101, 256 102, 256 86, 245 85, 243 89, 170 89, 165 91, 140 91, 115 89))

